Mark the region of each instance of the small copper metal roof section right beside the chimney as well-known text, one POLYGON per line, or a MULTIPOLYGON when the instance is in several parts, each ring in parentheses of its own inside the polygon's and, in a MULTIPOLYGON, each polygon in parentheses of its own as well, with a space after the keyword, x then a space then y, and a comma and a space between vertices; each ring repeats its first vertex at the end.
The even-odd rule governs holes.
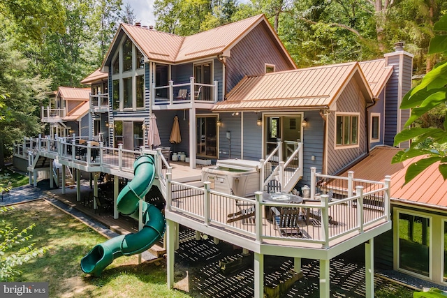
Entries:
POLYGON ((359 64, 362 72, 365 74, 372 94, 374 97, 379 97, 379 94, 393 73, 393 66, 386 66, 385 59, 363 61, 359 64))

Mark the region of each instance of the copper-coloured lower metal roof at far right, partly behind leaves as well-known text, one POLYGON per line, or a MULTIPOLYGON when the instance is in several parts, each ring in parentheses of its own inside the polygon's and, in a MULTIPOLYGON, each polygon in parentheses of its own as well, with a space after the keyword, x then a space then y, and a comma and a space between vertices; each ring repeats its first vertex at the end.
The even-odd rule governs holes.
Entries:
POLYGON ((393 147, 376 147, 367 158, 339 176, 347 177, 348 171, 353 171, 354 178, 384 181, 385 176, 390 175, 391 198, 425 204, 429 207, 447 207, 447 181, 438 170, 439 163, 430 165, 408 184, 404 184, 406 169, 423 156, 391 164, 393 156, 400 150, 393 147))

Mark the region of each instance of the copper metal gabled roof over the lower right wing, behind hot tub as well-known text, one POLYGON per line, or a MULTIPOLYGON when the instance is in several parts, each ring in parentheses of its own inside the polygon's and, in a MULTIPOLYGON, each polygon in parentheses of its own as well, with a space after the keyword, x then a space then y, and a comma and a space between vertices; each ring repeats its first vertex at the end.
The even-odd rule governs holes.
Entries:
POLYGON ((325 108, 337 100, 351 79, 360 84, 366 100, 372 100, 358 62, 350 62, 244 77, 228 93, 227 100, 217 103, 212 110, 325 108))

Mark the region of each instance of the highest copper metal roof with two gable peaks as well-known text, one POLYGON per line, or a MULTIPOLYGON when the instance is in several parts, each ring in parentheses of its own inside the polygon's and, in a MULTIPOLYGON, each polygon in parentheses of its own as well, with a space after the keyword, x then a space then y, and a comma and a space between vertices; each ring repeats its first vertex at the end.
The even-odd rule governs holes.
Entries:
POLYGON ((254 29, 261 22, 270 28, 271 36, 274 43, 288 57, 291 65, 295 66, 290 54, 284 48, 277 34, 274 32, 265 15, 256 15, 239 22, 226 24, 221 27, 210 29, 191 36, 177 36, 175 34, 147 29, 129 24, 120 24, 115 37, 109 47, 108 53, 103 61, 102 68, 108 64, 112 58, 111 54, 115 49, 115 43, 126 33, 135 43, 138 49, 149 60, 161 61, 166 63, 181 63, 200 59, 205 57, 213 57, 220 54, 228 55, 230 50, 241 38, 243 38, 251 29, 254 29))

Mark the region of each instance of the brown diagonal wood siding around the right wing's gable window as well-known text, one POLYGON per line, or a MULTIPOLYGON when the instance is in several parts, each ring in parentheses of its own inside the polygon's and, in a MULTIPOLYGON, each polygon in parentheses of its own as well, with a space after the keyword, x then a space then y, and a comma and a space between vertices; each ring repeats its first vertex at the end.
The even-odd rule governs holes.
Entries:
POLYGON ((335 112, 330 113, 328 120, 328 174, 334 174, 342 167, 351 163, 366 151, 365 133, 365 99, 363 98, 358 84, 351 80, 339 99, 337 100, 337 112, 360 112, 358 126, 359 146, 348 149, 335 149, 335 112))

